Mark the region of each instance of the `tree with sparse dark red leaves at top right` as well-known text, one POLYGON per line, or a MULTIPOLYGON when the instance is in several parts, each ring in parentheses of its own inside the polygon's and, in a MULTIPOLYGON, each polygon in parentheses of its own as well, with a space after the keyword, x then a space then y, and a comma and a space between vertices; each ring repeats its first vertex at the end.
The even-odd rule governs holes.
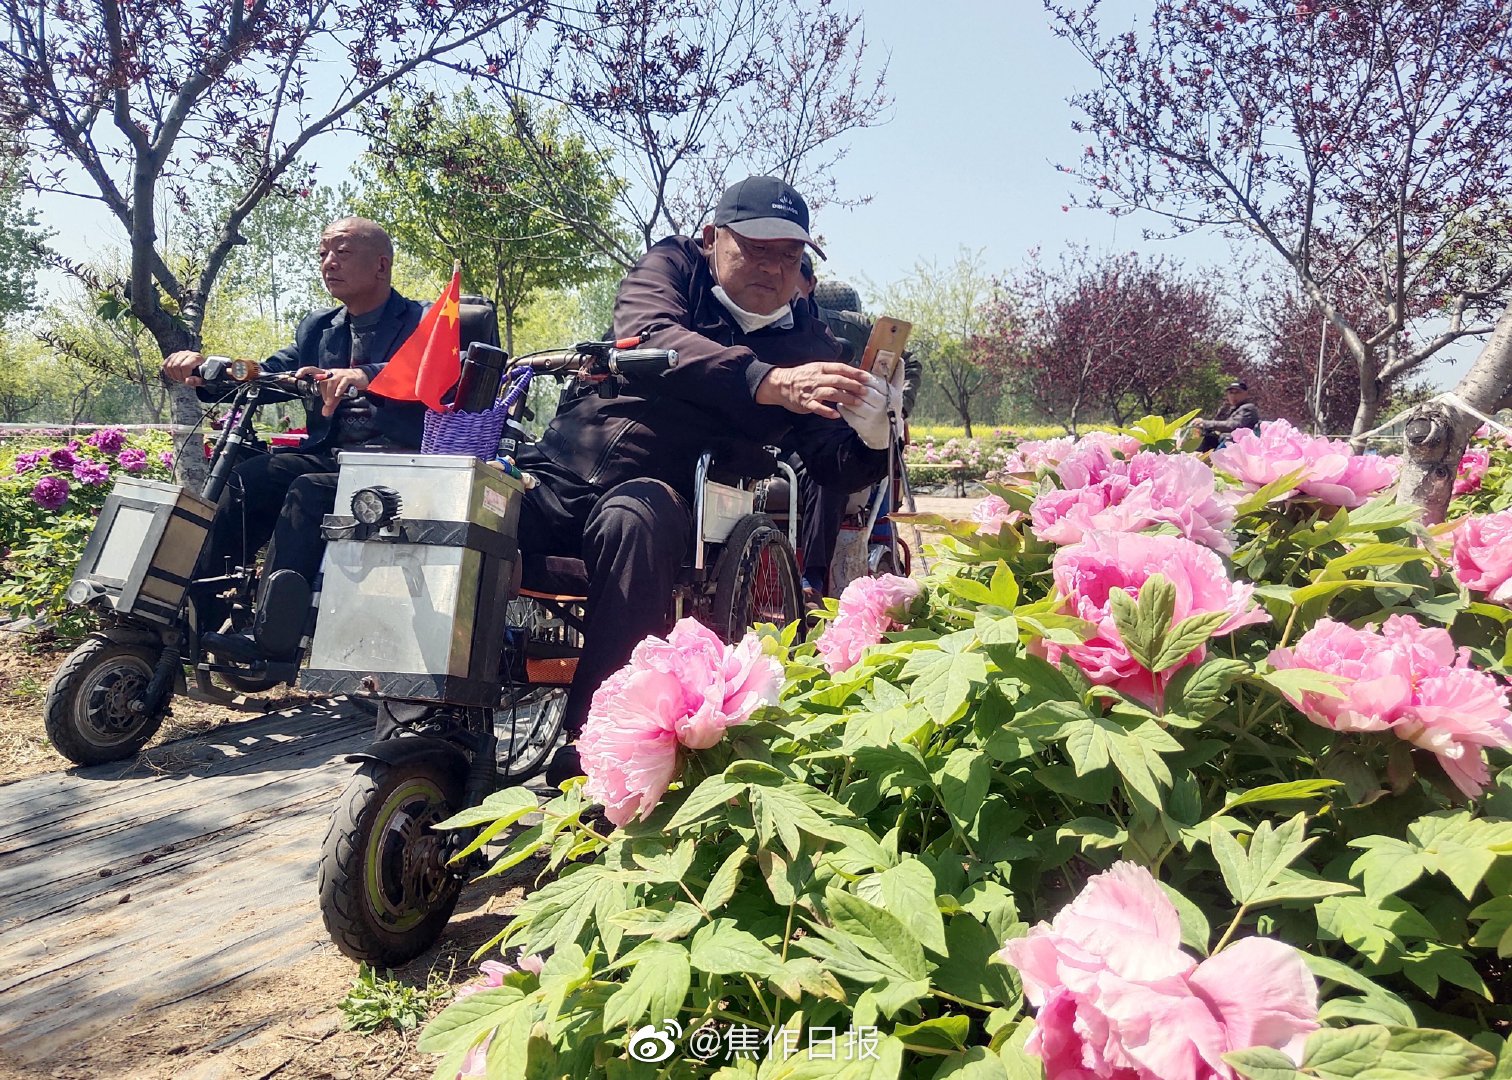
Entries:
POLYGON ((1098 71, 1074 98, 1087 203, 1258 239, 1358 371, 1350 428, 1491 331, 1512 284, 1512 36, 1504 0, 1155 0, 1105 33, 1045 0, 1098 71))

